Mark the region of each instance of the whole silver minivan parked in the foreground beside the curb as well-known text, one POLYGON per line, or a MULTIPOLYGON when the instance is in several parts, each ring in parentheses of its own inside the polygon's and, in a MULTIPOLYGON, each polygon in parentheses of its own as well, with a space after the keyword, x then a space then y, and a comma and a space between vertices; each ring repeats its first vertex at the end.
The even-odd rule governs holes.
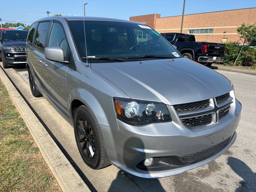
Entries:
POLYGON ((211 162, 236 140, 242 106, 232 82, 144 24, 43 18, 26 48, 32 94, 74 126, 93 169, 111 163, 143 178, 171 176, 211 162))

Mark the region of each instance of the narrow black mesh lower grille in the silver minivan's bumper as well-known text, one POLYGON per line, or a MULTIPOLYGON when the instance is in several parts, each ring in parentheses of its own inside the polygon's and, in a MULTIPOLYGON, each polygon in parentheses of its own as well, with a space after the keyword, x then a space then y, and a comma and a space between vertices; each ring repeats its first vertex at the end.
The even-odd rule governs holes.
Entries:
POLYGON ((210 147, 206 150, 202 150, 200 152, 189 154, 189 155, 182 156, 179 158, 184 163, 192 163, 192 162, 195 162, 198 160, 202 160, 202 159, 212 156, 212 155, 218 153, 219 151, 221 151, 222 149, 224 149, 226 147, 226 145, 228 144, 230 138, 231 138, 231 136, 229 138, 227 138, 226 140, 224 140, 223 142, 219 143, 218 145, 210 147))

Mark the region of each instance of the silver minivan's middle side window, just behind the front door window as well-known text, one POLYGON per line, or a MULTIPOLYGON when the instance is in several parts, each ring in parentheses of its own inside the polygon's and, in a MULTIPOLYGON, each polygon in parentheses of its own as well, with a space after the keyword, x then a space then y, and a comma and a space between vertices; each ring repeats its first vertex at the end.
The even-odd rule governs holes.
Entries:
POLYGON ((46 35, 50 26, 50 22, 41 22, 36 30, 35 47, 44 52, 46 35))

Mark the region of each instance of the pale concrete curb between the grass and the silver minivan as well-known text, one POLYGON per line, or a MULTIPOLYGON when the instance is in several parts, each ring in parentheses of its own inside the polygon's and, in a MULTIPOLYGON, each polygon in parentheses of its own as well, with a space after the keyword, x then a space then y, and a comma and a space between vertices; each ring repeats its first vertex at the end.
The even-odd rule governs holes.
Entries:
POLYGON ((38 146, 44 160, 64 192, 90 192, 88 186, 64 156, 60 148, 45 130, 36 115, 26 104, 12 82, 0 67, 0 78, 6 86, 12 101, 24 119, 30 134, 38 146))

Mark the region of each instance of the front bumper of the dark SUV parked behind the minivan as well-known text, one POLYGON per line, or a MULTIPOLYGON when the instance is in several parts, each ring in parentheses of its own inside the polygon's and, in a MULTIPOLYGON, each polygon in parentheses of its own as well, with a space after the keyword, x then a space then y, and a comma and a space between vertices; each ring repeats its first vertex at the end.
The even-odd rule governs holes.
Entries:
POLYGON ((3 55, 6 63, 9 66, 24 66, 26 65, 26 52, 4 50, 3 55))

